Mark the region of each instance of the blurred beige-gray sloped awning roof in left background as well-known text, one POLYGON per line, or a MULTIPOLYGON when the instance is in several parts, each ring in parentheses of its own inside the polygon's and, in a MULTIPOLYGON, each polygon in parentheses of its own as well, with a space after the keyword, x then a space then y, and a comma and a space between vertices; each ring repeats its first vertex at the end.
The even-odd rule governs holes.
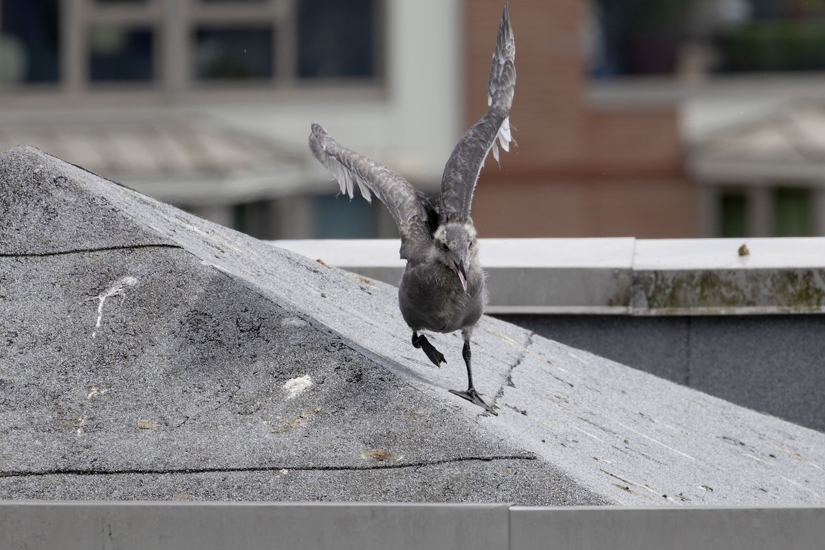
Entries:
POLYGON ((303 150, 180 110, 5 115, 0 150, 21 142, 176 204, 277 198, 305 180, 303 150))

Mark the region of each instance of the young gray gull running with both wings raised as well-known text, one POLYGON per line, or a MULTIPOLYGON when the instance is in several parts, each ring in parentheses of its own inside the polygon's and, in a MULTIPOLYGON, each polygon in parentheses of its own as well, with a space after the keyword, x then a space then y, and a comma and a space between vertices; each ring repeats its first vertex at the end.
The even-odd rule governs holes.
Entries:
POLYGON ((355 186, 371 202, 383 202, 401 234, 401 257, 407 260, 398 285, 398 306, 410 328, 413 346, 420 347, 436 366, 444 355, 418 331, 452 332, 464 335, 464 364, 469 387, 450 390, 496 414, 483 402, 473 385, 469 338, 487 303, 484 273, 479 265, 478 246, 470 209, 473 192, 484 160, 496 141, 510 150, 509 112, 516 86, 516 43, 507 6, 498 27, 496 49, 488 79, 488 110, 455 145, 441 178, 438 209, 420 190, 380 162, 343 147, 320 125, 312 125, 309 148, 352 198, 355 186))

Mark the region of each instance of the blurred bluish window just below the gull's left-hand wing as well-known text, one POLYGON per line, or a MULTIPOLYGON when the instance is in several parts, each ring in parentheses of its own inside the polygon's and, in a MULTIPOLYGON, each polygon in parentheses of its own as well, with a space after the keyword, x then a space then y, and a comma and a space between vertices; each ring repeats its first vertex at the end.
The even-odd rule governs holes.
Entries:
POLYGON ((315 197, 314 238, 375 238, 376 225, 375 204, 359 196, 315 197))

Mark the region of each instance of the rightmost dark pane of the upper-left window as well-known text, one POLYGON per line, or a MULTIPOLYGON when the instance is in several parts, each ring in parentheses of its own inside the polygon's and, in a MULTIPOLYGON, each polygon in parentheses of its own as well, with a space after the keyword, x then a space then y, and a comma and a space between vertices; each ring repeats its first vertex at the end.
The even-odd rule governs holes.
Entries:
POLYGON ((373 0, 298 2, 299 78, 375 77, 373 0))

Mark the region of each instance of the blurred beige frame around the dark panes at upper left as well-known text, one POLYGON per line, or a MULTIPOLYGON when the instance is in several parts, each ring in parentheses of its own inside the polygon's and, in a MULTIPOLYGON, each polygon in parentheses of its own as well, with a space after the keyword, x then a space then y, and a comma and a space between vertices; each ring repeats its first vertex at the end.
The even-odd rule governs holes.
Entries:
MULTIPOLYGON (((10 0, 0 0, 7 2, 10 0)), ((202 0, 145 0, 101 4, 97 0, 61 0, 59 12, 59 78, 57 82, 11 83, 0 89, 0 96, 25 98, 32 92, 47 96, 145 94, 157 96, 210 94, 232 90, 255 93, 260 90, 295 90, 298 92, 336 87, 383 90, 385 88, 384 22, 386 7, 375 0, 375 76, 372 78, 299 78, 298 21, 299 0, 260 0, 259 2, 203 2, 202 0), (153 35, 153 78, 147 82, 92 82, 88 32, 94 25, 123 25, 148 28, 153 35), (198 79, 193 56, 196 54, 196 31, 199 27, 239 26, 270 28, 272 40, 271 78, 198 79), (130 92, 130 93, 127 93, 130 92)), ((2 21, 0 21, 2 29, 2 21)), ((25 100, 24 100, 25 101, 25 100)))

